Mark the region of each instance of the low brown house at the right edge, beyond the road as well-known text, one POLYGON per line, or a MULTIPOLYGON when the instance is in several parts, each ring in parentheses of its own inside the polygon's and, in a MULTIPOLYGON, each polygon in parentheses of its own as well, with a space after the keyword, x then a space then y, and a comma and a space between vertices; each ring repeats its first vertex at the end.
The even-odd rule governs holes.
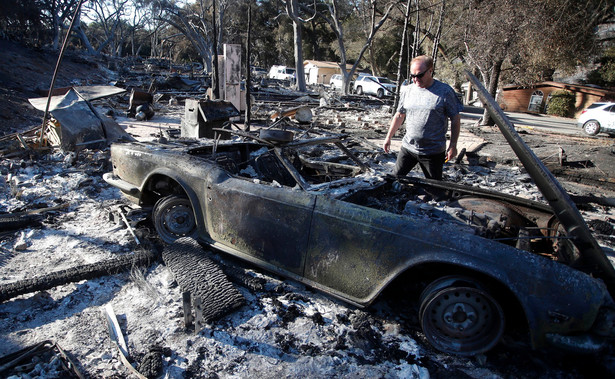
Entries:
POLYGON ((555 91, 567 90, 574 93, 575 117, 596 101, 612 101, 615 91, 580 84, 559 82, 542 82, 533 86, 506 86, 502 88, 498 103, 503 110, 509 112, 546 113, 551 94, 555 91))

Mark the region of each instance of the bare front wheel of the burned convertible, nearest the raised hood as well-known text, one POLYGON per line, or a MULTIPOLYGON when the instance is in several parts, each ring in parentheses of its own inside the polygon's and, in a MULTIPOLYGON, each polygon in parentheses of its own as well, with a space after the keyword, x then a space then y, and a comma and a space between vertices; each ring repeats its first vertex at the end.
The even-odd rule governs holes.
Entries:
POLYGON ((436 349, 476 355, 495 346, 504 333, 504 312, 477 282, 446 277, 421 295, 421 328, 436 349))

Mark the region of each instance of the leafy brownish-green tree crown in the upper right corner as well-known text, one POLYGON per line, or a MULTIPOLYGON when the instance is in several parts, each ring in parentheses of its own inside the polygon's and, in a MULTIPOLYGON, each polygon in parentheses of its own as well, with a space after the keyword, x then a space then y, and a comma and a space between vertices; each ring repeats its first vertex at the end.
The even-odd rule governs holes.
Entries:
MULTIPOLYGON (((495 97, 503 74, 508 82, 533 83, 591 56, 595 27, 612 15, 613 0, 466 0, 457 6, 465 20, 463 59, 495 97)), ((492 124, 487 112, 483 123, 492 124)))

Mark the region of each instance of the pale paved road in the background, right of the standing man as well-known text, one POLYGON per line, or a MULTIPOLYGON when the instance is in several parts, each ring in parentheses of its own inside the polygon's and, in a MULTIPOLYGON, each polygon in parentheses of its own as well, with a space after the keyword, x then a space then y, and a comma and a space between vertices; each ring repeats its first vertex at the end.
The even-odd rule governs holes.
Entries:
MULTIPOLYGON (((538 129, 551 133, 585 136, 586 134, 577 127, 577 120, 549 116, 545 114, 529 114, 519 112, 504 112, 517 129, 538 129)), ((483 108, 466 106, 461 112, 461 119, 466 121, 478 121, 483 114, 483 108)))

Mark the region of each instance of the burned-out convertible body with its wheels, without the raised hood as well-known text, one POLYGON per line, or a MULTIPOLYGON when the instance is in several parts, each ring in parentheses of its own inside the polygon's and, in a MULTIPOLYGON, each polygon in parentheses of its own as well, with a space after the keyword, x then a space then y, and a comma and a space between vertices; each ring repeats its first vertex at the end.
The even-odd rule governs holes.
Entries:
POLYGON ((506 315, 524 316, 534 347, 613 337, 613 300, 592 276, 611 273, 553 206, 377 175, 341 136, 210 142, 114 144, 105 180, 153 207, 166 242, 192 236, 357 306, 421 278, 419 321, 445 352, 489 350, 506 315))

